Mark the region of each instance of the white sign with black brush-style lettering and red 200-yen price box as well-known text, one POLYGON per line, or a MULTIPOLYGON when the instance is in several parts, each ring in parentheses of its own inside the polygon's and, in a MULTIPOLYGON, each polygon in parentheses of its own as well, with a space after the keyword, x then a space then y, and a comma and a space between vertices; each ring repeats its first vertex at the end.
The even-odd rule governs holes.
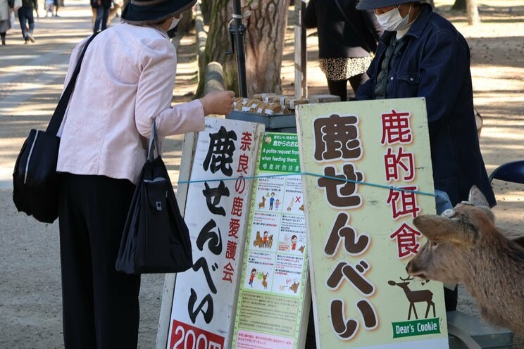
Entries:
POLYGON ((206 118, 192 164, 185 222, 192 269, 173 292, 168 349, 230 348, 251 189, 263 125, 206 118))

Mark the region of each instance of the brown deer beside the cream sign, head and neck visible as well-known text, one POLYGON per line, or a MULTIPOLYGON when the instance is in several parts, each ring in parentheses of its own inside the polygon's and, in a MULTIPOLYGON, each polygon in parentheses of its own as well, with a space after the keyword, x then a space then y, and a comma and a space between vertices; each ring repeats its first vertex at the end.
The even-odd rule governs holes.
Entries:
POLYGON ((413 224, 428 241, 406 265, 420 279, 463 284, 482 318, 524 333, 524 249, 495 226, 485 196, 473 186, 468 201, 413 224))

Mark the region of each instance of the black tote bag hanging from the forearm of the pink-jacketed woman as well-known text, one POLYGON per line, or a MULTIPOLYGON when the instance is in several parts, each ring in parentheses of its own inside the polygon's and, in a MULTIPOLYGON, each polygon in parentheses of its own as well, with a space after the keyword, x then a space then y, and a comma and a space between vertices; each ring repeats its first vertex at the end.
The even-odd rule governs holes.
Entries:
POLYGON ((193 266, 189 229, 180 215, 166 165, 151 126, 149 152, 133 195, 116 270, 126 274, 184 272, 193 266))

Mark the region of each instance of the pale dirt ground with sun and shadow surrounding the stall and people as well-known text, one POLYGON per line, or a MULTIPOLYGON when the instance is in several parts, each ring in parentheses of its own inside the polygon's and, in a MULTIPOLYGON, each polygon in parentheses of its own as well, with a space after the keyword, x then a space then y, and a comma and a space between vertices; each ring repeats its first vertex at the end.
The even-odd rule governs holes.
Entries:
MULTIPOLYGON (((517 6, 522 2, 516 0, 479 1, 483 23, 468 27, 463 15, 449 11, 452 2, 435 1, 439 12, 454 22, 471 47, 475 106, 484 116, 481 147, 488 172, 491 172, 497 165, 518 160, 524 154, 524 6, 517 6)), ((37 44, 41 46, 29 46, 27 50, 18 43, 15 49, 10 49, 11 53, 0 48, 0 82, 27 69, 39 72, 35 76, 42 85, 31 84, 34 81, 27 80, 28 75, 16 84, 0 84, 0 188, 6 188, 0 189, 0 348, 63 348, 58 224, 39 224, 15 212, 8 184, 16 153, 27 130, 42 127, 49 118, 49 110, 54 108, 68 52, 75 42, 89 34, 89 8, 85 10, 66 6, 63 18, 56 22, 51 18, 41 19, 40 25, 37 23, 42 38, 37 44), (55 63, 28 67, 28 63, 20 61, 27 59, 27 54, 42 56, 57 47, 60 51, 55 63), (22 103, 25 104, 22 106, 22 103)), ((11 39, 14 35, 11 32, 11 39)), ((285 93, 292 94, 292 23, 287 27, 285 42, 282 87, 285 93)), ((311 94, 327 93, 325 78, 316 60, 317 47, 314 30, 308 32, 311 94)), ((189 101, 196 90, 195 52, 194 37, 180 40, 175 103, 189 101)), ((171 137, 164 154, 173 182, 180 164, 180 140, 181 137, 171 137)), ((493 185, 499 201, 494 209, 499 225, 518 232, 523 227, 524 186, 504 182, 493 185)), ((162 287, 161 275, 142 279, 139 348, 154 348, 162 287)), ((459 302, 459 310, 478 315, 473 300, 463 290, 459 302)), ((524 349, 523 338, 517 337, 516 343, 513 348, 524 349)))

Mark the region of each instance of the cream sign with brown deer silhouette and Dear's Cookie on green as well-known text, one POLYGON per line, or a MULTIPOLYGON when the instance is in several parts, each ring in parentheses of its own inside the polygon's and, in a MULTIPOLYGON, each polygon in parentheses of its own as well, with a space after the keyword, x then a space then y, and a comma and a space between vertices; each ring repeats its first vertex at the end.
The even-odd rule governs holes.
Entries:
POLYGON ((444 291, 406 263, 435 213, 424 99, 299 106, 319 348, 448 348, 444 291))

